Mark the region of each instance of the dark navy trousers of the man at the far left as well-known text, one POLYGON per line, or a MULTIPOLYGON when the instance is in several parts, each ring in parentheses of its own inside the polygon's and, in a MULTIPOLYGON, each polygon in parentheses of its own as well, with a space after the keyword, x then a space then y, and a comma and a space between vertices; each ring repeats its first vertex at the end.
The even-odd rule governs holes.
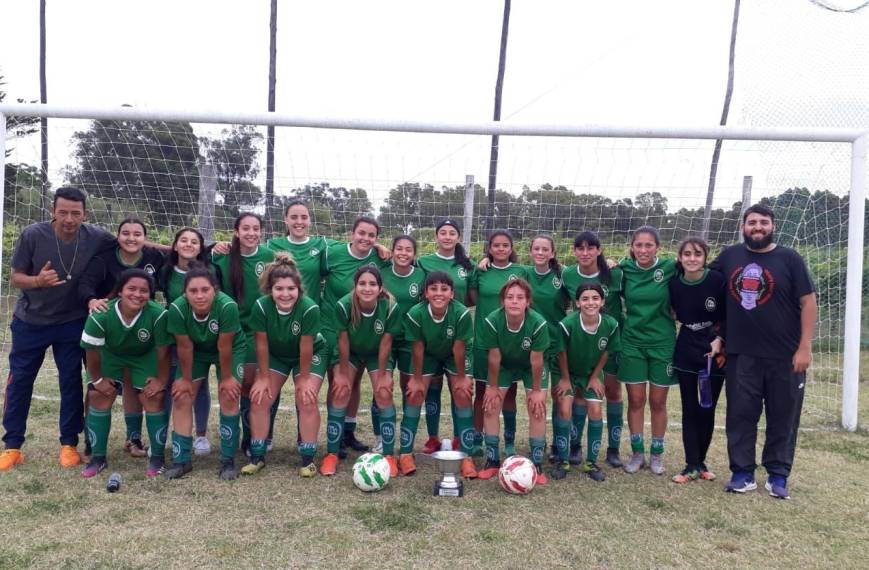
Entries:
POLYGON ((7 449, 20 449, 27 432, 27 416, 33 398, 33 383, 51 347, 60 385, 60 443, 78 445, 84 427, 81 366, 84 351, 79 346, 84 319, 60 325, 32 325, 13 318, 12 352, 3 407, 3 441, 7 449))

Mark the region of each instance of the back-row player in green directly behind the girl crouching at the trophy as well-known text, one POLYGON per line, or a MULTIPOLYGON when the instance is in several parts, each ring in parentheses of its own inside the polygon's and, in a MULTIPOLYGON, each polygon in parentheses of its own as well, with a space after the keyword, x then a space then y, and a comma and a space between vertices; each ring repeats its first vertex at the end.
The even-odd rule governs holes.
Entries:
MULTIPOLYGON (((435 224, 435 242, 437 250, 434 253, 419 258, 419 266, 426 274, 443 271, 453 282, 454 299, 465 306, 473 306, 468 298, 468 285, 473 280, 475 268, 468 259, 465 248, 461 244, 462 229, 453 218, 441 218, 435 224)), ((428 383, 425 395, 425 423, 428 430, 428 440, 422 448, 423 453, 434 453, 441 446, 438 431, 441 421, 441 393, 443 379, 432 377, 428 383)), ((455 416, 455 414, 453 414, 455 416)), ((455 418, 454 418, 455 420, 455 418)), ((453 421, 453 435, 456 432, 453 421)))

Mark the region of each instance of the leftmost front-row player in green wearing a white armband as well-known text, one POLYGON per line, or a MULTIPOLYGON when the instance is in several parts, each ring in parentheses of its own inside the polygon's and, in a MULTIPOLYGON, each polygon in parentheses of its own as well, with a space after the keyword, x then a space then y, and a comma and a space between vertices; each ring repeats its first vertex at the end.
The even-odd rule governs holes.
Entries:
POLYGON ((163 471, 163 449, 169 417, 163 390, 169 375, 172 338, 166 332, 166 310, 151 301, 154 279, 142 269, 124 271, 116 285, 117 298, 102 313, 91 313, 81 335, 87 351, 89 404, 86 421, 93 450, 82 477, 93 477, 108 465, 106 444, 112 425, 112 404, 125 379, 145 410, 151 459, 145 474, 163 471))

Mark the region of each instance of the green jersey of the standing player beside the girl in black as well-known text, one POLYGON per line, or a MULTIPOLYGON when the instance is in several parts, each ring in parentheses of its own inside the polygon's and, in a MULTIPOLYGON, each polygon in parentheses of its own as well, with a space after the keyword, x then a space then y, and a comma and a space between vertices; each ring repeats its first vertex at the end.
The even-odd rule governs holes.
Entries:
POLYGON ((622 342, 639 348, 671 348, 676 343, 676 323, 670 313, 670 279, 676 262, 656 258, 642 268, 633 259, 620 264, 625 323, 622 342))

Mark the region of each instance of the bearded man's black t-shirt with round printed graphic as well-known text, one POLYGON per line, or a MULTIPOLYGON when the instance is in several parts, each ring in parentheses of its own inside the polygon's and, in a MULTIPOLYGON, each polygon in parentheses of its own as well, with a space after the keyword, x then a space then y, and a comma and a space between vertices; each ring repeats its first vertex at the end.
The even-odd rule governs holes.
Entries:
POLYGON ((727 352, 790 359, 800 344, 800 297, 815 291, 803 258, 780 245, 765 253, 732 245, 710 267, 725 279, 727 352))

